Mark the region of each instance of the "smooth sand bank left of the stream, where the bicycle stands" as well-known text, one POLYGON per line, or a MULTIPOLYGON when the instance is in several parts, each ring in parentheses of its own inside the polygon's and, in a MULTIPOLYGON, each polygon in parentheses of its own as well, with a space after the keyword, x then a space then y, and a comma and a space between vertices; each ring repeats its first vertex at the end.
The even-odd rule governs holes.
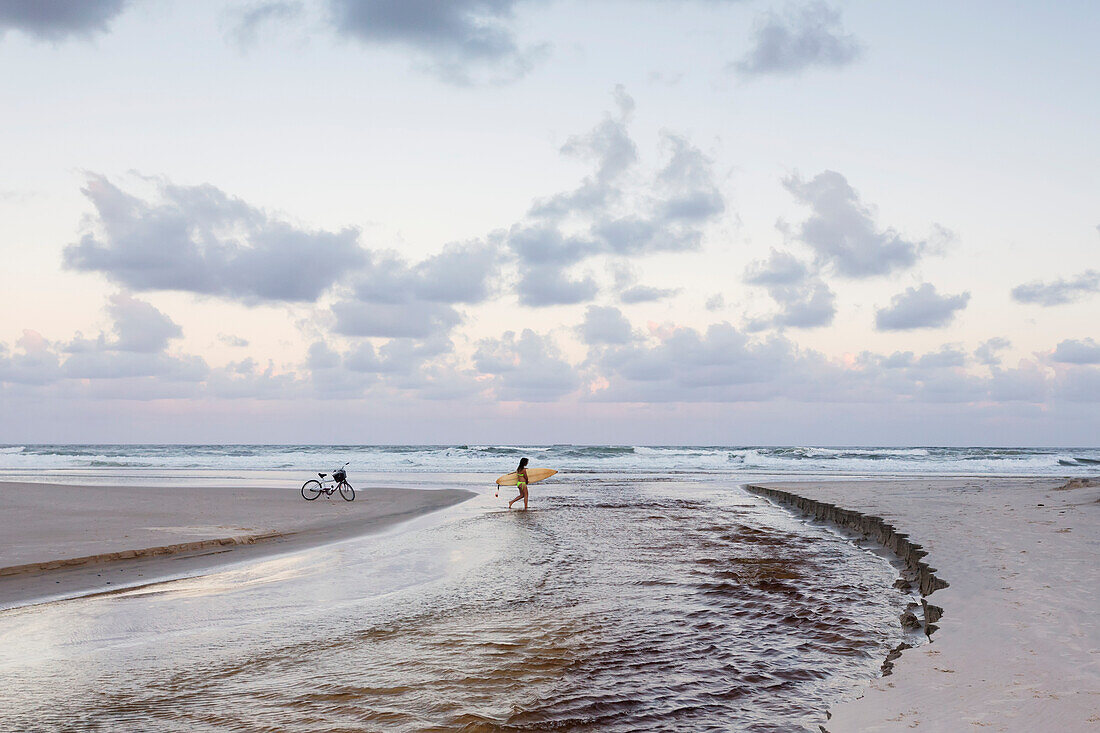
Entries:
POLYGON ((457 504, 471 492, 0 483, 0 608, 194 573, 320 545, 457 504))

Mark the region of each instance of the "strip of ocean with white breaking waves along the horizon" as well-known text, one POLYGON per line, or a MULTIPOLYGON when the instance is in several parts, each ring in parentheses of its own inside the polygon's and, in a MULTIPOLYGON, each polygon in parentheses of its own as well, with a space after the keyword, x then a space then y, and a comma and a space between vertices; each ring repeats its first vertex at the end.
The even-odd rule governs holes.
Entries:
POLYGON ((521 456, 532 466, 571 473, 1084 475, 1100 470, 1100 448, 9 445, 0 446, 0 479, 127 478, 160 469, 309 473, 345 461, 365 472, 501 474, 521 456))

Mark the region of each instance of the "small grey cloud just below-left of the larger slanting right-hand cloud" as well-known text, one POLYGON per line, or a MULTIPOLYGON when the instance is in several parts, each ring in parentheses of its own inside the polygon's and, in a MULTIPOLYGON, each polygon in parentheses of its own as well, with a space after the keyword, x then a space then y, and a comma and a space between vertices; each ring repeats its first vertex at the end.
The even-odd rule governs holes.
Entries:
POLYGON ((772 250, 745 271, 745 282, 759 285, 780 305, 780 311, 754 321, 754 329, 768 325, 792 328, 828 326, 836 316, 836 294, 811 269, 789 252, 772 250))

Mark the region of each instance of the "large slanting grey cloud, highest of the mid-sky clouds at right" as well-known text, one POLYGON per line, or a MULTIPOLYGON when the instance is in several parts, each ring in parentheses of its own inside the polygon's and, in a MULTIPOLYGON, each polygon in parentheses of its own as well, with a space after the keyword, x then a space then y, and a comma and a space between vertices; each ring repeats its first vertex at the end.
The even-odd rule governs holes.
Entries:
POLYGON ((927 242, 903 239, 893 229, 879 229, 873 211, 835 171, 809 182, 792 175, 783 186, 813 210, 795 237, 814 251, 820 266, 839 275, 858 278, 906 270, 928 248, 927 242))

